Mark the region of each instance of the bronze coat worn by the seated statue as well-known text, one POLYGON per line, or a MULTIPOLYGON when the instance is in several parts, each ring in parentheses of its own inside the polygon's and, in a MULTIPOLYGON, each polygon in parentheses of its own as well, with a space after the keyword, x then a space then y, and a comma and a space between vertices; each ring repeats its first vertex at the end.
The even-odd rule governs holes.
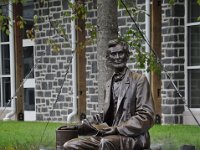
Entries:
MULTIPOLYGON (((108 109, 112 94, 112 79, 106 84, 104 121, 109 118, 108 109)), ((154 104, 146 77, 127 69, 120 86, 120 94, 113 126, 120 135, 140 140, 141 146, 150 145, 148 130, 154 124, 154 104)))

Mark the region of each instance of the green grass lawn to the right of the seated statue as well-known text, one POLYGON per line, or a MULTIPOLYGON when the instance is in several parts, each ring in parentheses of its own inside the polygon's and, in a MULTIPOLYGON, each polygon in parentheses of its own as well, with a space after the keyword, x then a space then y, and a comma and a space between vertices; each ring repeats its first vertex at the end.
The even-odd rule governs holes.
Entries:
POLYGON ((200 127, 191 125, 155 125, 150 129, 151 143, 164 150, 180 150, 182 145, 194 145, 200 150, 200 127))

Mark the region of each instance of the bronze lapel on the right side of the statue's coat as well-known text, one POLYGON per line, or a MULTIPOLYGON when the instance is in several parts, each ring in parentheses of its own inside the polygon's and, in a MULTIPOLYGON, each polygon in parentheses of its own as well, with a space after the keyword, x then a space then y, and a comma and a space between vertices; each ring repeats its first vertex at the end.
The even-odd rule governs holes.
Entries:
POLYGON ((117 110, 116 110, 116 114, 119 110, 119 107, 120 107, 120 104, 126 94, 126 91, 130 85, 130 81, 129 81, 129 74, 130 74, 130 71, 127 70, 126 71, 126 75, 124 77, 124 79, 122 80, 122 83, 121 83, 121 86, 120 86, 120 94, 119 94, 119 97, 118 97, 118 101, 117 101, 117 110))

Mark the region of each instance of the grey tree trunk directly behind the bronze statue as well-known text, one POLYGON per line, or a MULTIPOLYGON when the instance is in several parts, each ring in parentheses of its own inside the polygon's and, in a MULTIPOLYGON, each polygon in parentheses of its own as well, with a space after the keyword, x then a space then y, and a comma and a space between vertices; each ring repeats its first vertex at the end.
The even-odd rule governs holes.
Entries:
POLYGON ((117 0, 97 0, 97 63, 99 111, 105 98, 106 81, 112 70, 106 66, 108 41, 118 36, 117 0))

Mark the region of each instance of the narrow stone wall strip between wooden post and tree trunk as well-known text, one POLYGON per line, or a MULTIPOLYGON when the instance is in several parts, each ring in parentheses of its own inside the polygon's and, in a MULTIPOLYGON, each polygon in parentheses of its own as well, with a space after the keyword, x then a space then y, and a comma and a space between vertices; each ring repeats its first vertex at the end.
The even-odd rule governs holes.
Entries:
MULTIPOLYGON (((86 24, 92 24, 94 27, 97 24, 97 0, 88 1, 86 3, 88 10, 86 24)), ((89 40, 91 33, 87 30, 86 38, 89 40)), ((87 45, 86 48, 86 114, 91 117, 98 111, 98 83, 97 83, 97 51, 96 41, 93 45, 87 45)))

